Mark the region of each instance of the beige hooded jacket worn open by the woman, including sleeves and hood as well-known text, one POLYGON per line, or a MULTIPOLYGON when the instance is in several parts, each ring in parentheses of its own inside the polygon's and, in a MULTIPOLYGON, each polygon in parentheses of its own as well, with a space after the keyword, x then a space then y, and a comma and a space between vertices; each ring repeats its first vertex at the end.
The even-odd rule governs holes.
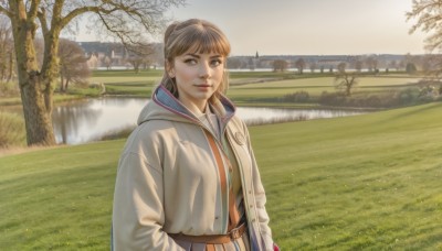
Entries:
MULTIPOLYGON (((245 124, 221 98, 221 132, 236 159, 252 250, 273 250, 265 193, 245 124)), ((217 113, 217 112, 215 112, 217 113)), ((159 86, 122 153, 114 195, 113 250, 183 250, 168 233, 224 234, 229 219, 210 131, 159 86)), ((215 139, 215 137, 213 137, 215 139)), ((215 139, 220 151, 223 143, 215 139)), ((228 172, 228 171, 225 171, 228 172)))

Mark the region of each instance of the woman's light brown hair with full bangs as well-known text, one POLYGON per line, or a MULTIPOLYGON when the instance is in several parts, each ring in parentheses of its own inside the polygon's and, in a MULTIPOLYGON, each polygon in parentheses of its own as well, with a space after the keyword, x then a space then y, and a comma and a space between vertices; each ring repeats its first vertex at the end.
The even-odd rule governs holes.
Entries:
MULTIPOLYGON (((204 20, 190 19, 183 22, 175 22, 167 28, 165 33, 165 73, 161 85, 177 98, 176 81, 175 78, 169 77, 168 69, 173 66, 175 57, 189 51, 218 53, 227 58, 230 54, 230 43, 218 26, 204 20)), ((228 87, 229 76, 228 72, 224 72, 218 90, 209 101, 211 103, 219 101, 220 94, 224 94, 228 87)))

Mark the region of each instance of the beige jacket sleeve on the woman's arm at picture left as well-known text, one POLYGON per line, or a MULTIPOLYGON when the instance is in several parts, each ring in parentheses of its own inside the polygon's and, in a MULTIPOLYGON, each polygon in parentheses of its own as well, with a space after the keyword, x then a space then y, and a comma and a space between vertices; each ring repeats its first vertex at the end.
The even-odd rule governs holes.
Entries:
POLYGON ((122 155, 114 194, 113 250, 183 250, 162 231, 162 171, 143 155, 122 155))

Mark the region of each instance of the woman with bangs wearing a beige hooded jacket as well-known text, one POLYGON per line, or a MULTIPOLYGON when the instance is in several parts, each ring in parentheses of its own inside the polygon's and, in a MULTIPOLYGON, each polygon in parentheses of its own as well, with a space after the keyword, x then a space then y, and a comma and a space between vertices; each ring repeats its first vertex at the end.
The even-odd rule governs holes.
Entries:
POLYGON ((223 96, 229 53, 207 21, 167 29, 161 84, 119 161, 114 250, 274 250, 249 133, 223 96))

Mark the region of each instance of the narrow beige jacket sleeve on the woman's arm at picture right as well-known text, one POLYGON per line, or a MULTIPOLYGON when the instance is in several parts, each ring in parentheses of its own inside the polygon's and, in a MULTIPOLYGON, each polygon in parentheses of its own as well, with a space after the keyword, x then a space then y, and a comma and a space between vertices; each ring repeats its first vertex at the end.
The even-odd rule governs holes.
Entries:
POLYGON ((265 197, 264 186, 262 185, 261 182, 260 171, 257 168, 256 160, 253 153, 249 130, 246 129, 245 124, 243 127, 246 135, 249 152, 252 159, 253 189, 256 201, 257 220, 260 222, 260 231, 263 239, 262 241, 265 247, 265 250, 273 251, 272 230, 269 227, 270 218, 267 211, 265 210, 266 197, 265 197))

